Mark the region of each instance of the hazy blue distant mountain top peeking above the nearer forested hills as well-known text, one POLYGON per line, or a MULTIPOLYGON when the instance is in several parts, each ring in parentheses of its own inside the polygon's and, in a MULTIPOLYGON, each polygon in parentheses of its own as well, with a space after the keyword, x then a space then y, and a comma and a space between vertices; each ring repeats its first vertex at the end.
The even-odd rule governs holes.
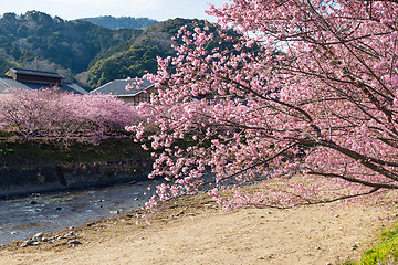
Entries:
POLYGON ((132 18, 132 17, 115 18, 111 15, 103 15, 97 18, 83 18, 78 20, 88 21, 93 24, 108 28, 112 30, 118 30, 118 29, 145 30, 159 22, 157 20, 153 20, 148 18, 132 18))

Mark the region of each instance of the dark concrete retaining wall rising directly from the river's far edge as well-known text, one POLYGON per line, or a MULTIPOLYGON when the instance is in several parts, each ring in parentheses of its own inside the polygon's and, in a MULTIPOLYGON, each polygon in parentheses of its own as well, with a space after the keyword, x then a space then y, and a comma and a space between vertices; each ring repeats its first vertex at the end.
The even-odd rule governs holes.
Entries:
POLYGON ((0 168, 0 197, 145 180, 149 170, 145 160, 0 168))

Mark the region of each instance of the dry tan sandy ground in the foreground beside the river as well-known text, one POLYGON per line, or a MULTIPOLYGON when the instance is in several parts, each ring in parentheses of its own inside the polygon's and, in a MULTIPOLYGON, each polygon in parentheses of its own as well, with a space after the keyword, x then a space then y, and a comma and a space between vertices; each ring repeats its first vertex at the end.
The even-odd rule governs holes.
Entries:
MULTIPOLYGON (((221 210, 205 195, 169 202, 151 225, 125 214, 74 229, 71 239, 0 247, 0 264, 339 264, 357 258, 390 225, 396 208, 318 204, 221 210)), ((72 230, 56 232, 64 235, 72 230)))

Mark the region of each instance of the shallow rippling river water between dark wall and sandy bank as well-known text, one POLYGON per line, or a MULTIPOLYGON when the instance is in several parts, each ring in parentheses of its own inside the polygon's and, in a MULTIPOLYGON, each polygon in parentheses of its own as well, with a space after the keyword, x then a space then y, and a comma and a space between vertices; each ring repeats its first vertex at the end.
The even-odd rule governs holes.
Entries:
POLYGON ((155 181, 0 200, 0 244, 139 209, 155 181), (147 192, 145 194, 145 192, 147 192))

